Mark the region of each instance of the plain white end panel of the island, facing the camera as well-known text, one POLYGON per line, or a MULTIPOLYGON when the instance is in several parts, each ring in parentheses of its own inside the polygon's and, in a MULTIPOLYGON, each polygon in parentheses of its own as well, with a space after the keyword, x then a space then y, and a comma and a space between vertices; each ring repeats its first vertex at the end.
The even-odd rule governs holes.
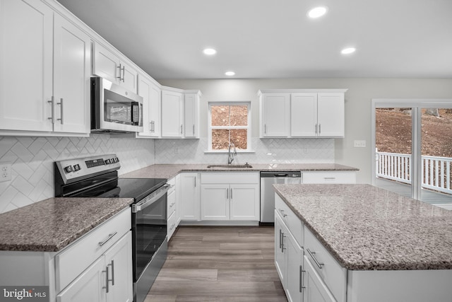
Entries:
POLYGON ((352 271, 347 302, 452 301, 452 269, 352 271))

